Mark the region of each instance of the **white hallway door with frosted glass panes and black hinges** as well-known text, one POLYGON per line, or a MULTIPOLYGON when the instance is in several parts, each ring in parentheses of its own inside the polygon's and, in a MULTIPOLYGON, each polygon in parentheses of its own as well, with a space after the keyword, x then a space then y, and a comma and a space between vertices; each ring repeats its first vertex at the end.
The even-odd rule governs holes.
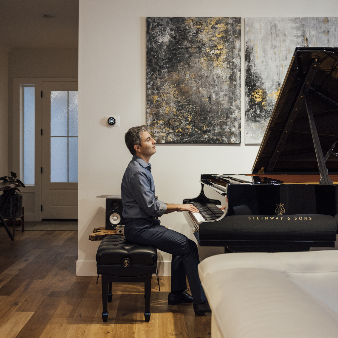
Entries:
POLYGON ((77 219, 77 82, 42 82, 42 219, 77 219))

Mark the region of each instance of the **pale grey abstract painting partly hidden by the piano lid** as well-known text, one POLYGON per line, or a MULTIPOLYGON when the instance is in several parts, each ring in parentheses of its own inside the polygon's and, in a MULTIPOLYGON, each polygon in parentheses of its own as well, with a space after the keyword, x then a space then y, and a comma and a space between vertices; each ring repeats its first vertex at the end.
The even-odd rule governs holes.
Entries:
POLYGON ((261 143, 297 46, 337 47, 338 18, 245 18, 245 143, 261 143))

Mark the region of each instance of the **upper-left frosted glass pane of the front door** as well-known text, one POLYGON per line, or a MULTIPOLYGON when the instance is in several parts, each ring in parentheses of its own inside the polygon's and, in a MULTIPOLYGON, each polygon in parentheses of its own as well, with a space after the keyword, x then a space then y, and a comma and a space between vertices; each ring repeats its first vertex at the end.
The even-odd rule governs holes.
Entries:
POLYGON ((68 136, 68 92, 50 92, 50 136, 68 136))

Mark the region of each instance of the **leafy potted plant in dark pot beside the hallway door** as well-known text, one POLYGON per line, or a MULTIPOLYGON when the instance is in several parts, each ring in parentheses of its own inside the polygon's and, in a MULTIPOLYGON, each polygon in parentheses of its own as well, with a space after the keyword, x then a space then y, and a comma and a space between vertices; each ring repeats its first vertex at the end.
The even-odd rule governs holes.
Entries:
MULTIPOLYGON (((15 172, 11 171, 10 174, 11 176, 0 177, 0 180, 2 180, 2 182, 4 183, 5 182, 19 183, 23 188, 25 188, 25 185, 20 181, 20 179, 17 179, 17 174, 15 172)), ((20 192, 18 188, 15 188, 15 193, 12 196, 10 196, 10 198, 4 205, 1 212, 3 218, 14 219, 22 216, 22 195, 19 195, 18 191, 20 192)), ((0 195, 0 205, 6 198, 6 195, 9 194, 10 192, 11 190, 3 191, 3 194, 0 195)))

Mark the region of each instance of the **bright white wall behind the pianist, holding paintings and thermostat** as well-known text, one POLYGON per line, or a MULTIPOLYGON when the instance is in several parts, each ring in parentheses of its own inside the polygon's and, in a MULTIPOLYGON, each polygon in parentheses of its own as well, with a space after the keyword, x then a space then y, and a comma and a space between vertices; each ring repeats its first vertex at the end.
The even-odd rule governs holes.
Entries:
MULTIPOLYGON (((338 16, 336 0, 80 0, 79 2, 79 251, 77 274, 95 275, 99 242, 88 240, 104 226, 102 194, 120 194, 131 159, 128 128, 146 121, 146 17, 338 16), (104 128, 104 115, 119 115, 120 128, 104 128)), ((244 23, 242 21, 242 126, 244 126, 244 23)), ((156 195, 180 203, 198 195, 201 173, 250 173, 258 146, 159 145, 152 157, 156 195)), ((190 233, 182 213, 162 224, 190 233)), ((160 260, 169 273, 170 255, 160 260)))

